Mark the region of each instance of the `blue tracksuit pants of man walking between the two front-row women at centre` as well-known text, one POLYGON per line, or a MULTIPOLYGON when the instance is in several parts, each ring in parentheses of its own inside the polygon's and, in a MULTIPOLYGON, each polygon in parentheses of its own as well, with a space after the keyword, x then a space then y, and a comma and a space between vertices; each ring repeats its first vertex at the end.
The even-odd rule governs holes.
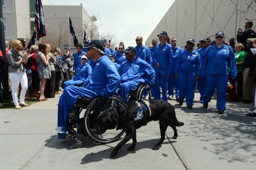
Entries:
POLYGON ((170 73, 170 75, 167 77, 167 89, 169 95, 174 95, 174 86, 175 86, 175 97, 179 97, 179 85, 178 85, 178 79, 175 78, 174 70, 170 73))

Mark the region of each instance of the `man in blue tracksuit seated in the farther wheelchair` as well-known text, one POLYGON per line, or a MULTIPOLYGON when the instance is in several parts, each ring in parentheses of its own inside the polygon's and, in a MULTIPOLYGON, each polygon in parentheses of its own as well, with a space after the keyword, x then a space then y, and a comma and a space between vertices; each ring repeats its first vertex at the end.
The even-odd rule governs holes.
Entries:
POLYGON ((123 51, 126 61, 120 65, 118 73, 121 77, 121 98, 125 101, 127 94, 135 90, 139 83, 148 85, 146 89, 149 90, 153 86, 155 71, 146 61, 136 57, 134 47, 127 47, 123 51))

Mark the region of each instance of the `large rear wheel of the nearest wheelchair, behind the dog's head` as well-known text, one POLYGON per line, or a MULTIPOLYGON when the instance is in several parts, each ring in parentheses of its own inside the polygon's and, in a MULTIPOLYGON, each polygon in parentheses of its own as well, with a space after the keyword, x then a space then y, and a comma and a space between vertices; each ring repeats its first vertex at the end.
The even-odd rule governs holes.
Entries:
POLYGON ((123 130, 110 129, 107 130, 102 136, 94 134, 92 130, 97 124, 97 118, 100 113, 106 109, 116 107, 117 105, 124 104, 124 101, 117 96, 110 97, 104 107, 99 107, 96 104, 96 99, 90 103, 84 114, 84 129, 87 135, 98 143, 110 143, 124 134, 123 130))

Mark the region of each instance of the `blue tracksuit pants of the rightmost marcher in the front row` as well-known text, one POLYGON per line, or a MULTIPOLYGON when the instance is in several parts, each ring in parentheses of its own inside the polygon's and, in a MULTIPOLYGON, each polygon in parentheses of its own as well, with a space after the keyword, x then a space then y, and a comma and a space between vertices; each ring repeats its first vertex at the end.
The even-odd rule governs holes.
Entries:
POLYGON ((206 89, 204 103, 208 104, 217 87, 217 109, 226 109, 226 93, 227 93, 228 75, 210 75, 206 74, 206 89))

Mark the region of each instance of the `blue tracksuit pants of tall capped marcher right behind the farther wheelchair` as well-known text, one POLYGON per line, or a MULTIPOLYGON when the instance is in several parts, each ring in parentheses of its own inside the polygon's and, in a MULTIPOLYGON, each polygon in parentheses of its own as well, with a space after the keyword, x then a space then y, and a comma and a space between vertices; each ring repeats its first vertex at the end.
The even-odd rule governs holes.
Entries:
POLYGON ((161 98, 159 82, 161 82, 162 87, 162 99, 163 101, 167 101, 167 73, 160 73, 159 71, 156 71, 154 82, 154 97, 156 100, 160 100, 161 98))

